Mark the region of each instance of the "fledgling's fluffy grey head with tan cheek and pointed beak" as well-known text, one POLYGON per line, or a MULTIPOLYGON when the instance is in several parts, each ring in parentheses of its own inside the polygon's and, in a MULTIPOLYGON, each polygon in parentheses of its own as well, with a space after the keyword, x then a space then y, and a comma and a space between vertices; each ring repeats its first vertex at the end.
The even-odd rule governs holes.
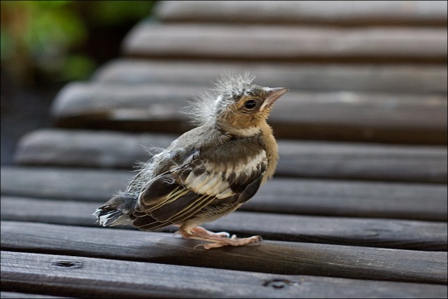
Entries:
POLYGON ((258 134, 274 102, 288 89, 255 85, 253 78, 248 74, 219 78, 214 89, 193 102, 186 112, 200 125, 213 123, 241 137, 258 134))

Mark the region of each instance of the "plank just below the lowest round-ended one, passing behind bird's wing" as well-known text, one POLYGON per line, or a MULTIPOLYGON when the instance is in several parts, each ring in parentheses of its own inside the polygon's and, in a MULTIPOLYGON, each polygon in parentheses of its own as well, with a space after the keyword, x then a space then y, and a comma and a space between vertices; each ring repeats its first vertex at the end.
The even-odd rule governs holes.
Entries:
MULTIPOLYGON (((1 167, 0 186, 2 195, 102 203, 118 190, 125 190, 132 174, 98 169, 1 167)), ((447 186, 279 178, 267 181, 241 210, 446 221, 447 186)))

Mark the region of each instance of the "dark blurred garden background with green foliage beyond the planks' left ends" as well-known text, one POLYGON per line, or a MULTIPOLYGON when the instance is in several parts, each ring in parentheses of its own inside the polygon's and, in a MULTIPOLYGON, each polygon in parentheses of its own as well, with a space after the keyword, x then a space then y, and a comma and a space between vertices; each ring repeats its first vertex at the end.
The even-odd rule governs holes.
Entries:
POLYGON ((68 81, 87 80, 156 1, 1 1, 1 164, 22 136, 51 125, 68 81))

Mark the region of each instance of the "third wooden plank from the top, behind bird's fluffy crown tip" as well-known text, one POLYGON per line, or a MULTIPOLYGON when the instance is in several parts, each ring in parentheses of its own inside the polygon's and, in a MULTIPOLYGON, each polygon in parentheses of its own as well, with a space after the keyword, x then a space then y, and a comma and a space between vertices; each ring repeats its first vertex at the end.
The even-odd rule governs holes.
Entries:
MULTIPOLYGON (((310 64, 295 62, 205 62, 193 60, 112 60, 93 76, 113 84, 175 84, 205 88, 224 71, 256 76, 263 86, 302 91, 447 93, 447 66, 442 64, 310 64)), ((179 86, 180 85, 180 86, 179 86)), ((194 91, 194 90, 193 90, 194 91)))

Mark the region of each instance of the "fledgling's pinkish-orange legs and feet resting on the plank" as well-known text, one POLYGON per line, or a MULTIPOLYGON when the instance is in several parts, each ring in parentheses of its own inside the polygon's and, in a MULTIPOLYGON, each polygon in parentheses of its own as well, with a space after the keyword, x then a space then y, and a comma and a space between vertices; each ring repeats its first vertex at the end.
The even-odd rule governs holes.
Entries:
POLYGON ((194 228, 179 228, 179 233, 186 239, 200 239, 211 243, 199 244, 197 246, 204 246, 204 249, 218 248, 222 246, 241 246, 253 242, 260 242, 260 236, 252 236, 248 238, 237 238, 236 235, 232 235, 228 232, 211 232, 200 226, 194 228))

